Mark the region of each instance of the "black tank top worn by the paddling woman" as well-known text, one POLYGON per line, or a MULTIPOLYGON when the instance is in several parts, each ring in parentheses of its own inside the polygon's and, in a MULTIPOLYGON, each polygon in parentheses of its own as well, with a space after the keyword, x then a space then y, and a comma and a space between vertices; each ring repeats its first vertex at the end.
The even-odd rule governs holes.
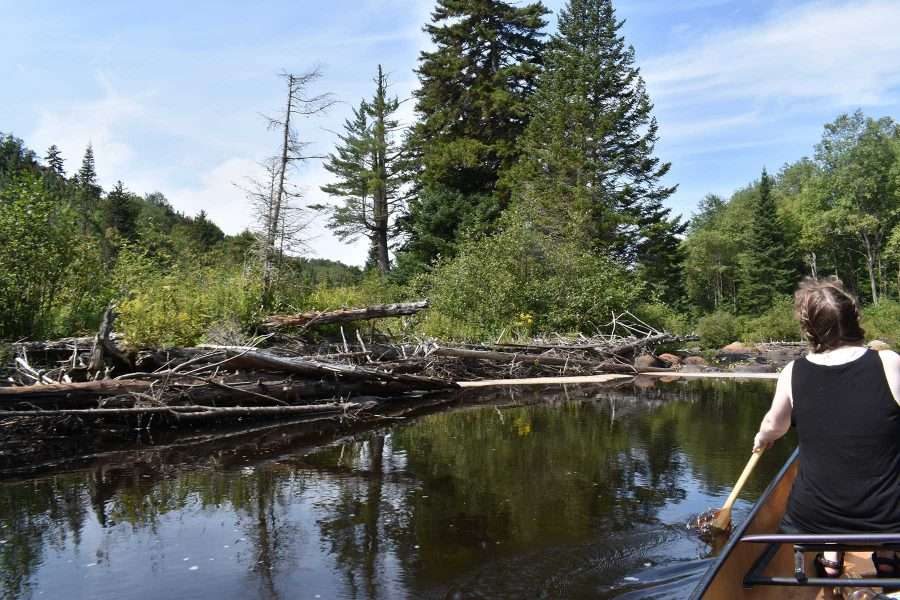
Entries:
POLYGON ((791 393, 800 468, 788 518, 807 533, 900 532, 900 406, 878 353, 801 358, 791 393))

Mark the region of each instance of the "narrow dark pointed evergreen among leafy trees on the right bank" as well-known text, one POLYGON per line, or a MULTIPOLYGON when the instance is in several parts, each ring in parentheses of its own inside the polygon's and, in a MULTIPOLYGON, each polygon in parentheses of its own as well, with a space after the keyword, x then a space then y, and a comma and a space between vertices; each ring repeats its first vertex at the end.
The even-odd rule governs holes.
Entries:
POLYGON ((772 179, 763 169, 753 206, 749 243, 740 260, 738 305, 742 312, 760 314, 795 284, 792 252, 784 225, 775 209, 772 179))

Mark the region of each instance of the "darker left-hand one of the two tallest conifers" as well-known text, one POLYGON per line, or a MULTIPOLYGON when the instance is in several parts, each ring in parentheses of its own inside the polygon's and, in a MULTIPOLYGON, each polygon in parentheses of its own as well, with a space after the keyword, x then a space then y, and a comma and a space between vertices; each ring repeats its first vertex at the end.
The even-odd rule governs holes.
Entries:
POLYGON ((546 14, 540 2, 438 0, 426 26, 436 47, 417 70, 420 193, 404 221, 420 263, 452 252, 460 230, 489 227, 506 204, 498 181, 519 155, 546 14))

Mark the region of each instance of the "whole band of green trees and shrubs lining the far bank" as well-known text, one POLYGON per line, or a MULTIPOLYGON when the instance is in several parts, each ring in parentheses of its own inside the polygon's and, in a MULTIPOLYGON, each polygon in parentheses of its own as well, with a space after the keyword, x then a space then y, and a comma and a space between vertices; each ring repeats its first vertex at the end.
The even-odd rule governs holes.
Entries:
POLYGON ((613 3, 569 0, 553 29, 549 17, 540 2, 437 0, 412 98, 393 93, 392 65, 362 99, 329 93, 326 69, 273 77, 278 146, 244 186, 254 219, 239 235, 165 190, 103 189, 91 146, 63 156, 0 134, 0 339, 93 335, 114 305, 126 346, 225 343, 273 314, 427 298, 392 333, 593 335, 627 310, 713 347, 798 340, 797 282, 837 275, 869 337, 898 340, 897 122, 835 114, 808 156, 676 214, 665 131, 613 3), (295 124, 326 110, 344 126, 312 156, 295 124), (312 160, 331 203, 298 193, 312 160), (310 258, 313 218, 366 240, 366 266, 310 258))

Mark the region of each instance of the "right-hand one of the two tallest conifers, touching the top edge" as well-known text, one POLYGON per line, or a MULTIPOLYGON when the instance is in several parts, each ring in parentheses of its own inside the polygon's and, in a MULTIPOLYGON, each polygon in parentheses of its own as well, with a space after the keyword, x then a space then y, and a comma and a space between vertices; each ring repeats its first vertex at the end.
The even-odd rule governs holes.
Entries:
POLYGON ((654 253, 674 248, 684 225, 662 204, 675 191, 661 183, 670 163, 653 154, 653 105, 621 28, 610 0, 560 11, 512 185, 545 226, 643 263, 661 283, 677 264, 654 253))

